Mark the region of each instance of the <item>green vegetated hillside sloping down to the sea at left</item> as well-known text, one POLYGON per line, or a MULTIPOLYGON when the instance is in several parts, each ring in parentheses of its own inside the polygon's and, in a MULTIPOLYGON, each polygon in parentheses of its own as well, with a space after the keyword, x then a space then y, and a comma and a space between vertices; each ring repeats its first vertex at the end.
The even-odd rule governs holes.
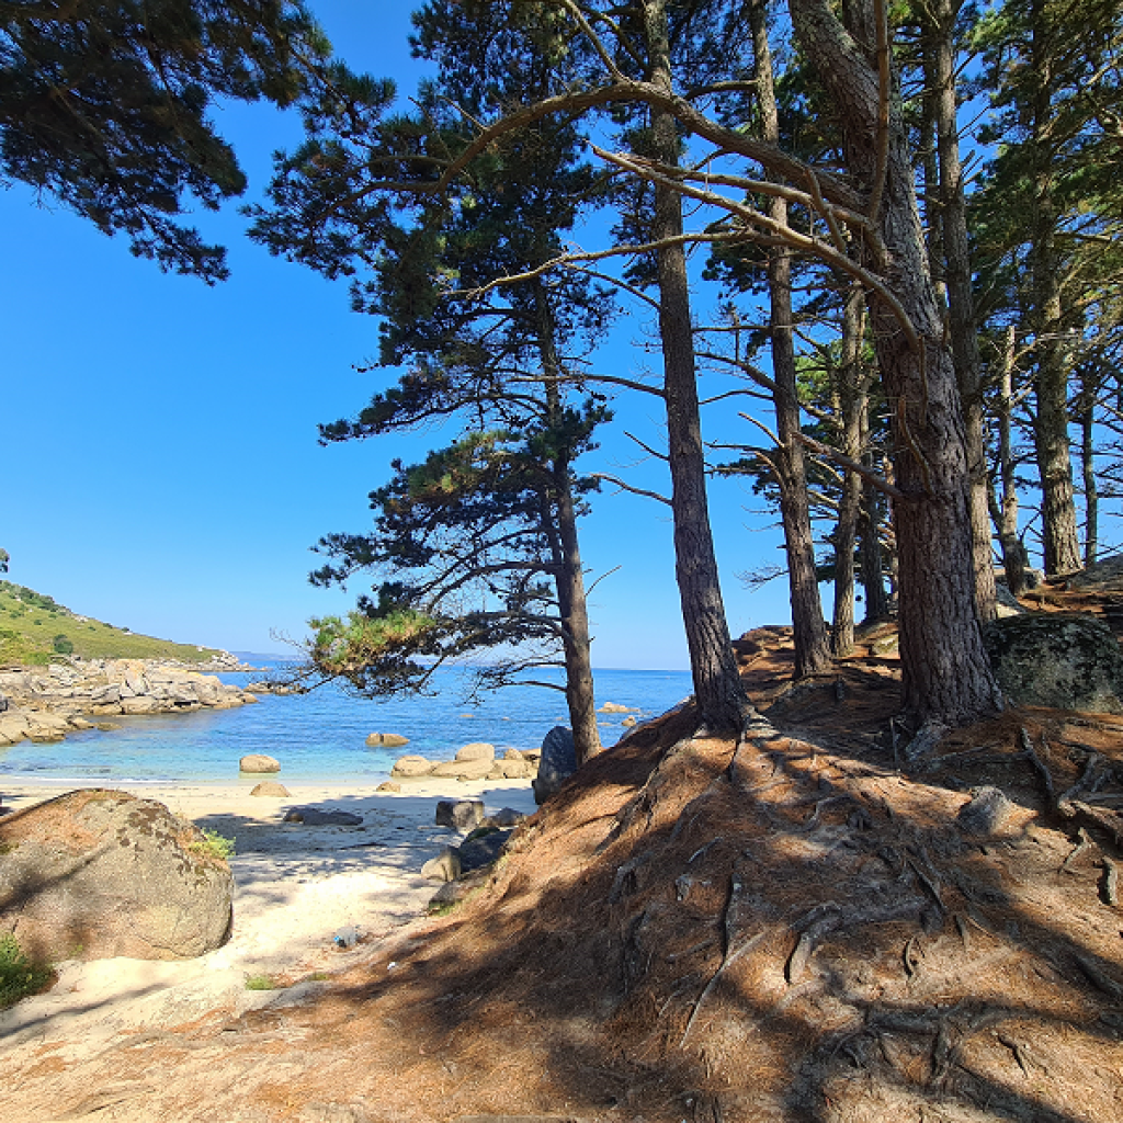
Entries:
POLYGON ((26 585, 0 581, 0 666, 46 666, 60 656, 83 659, 179 659, 208 663, 220 652, 139 636, 83 617, 26 585))

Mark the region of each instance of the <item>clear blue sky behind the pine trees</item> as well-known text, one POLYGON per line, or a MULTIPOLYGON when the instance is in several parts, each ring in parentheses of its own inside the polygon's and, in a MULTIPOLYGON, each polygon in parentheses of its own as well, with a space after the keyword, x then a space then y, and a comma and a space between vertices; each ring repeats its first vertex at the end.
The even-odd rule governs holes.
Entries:
MULTIPOLYGON (((417 76, 408 7, 316 0, 337 52, 356 67, 417 76)), ((249 175, 300 137, 295 115, 232 106, 217 115, 249 175)), ((309 547, 368 524, 366 494, 394 457, 423 457, 424 435, 321 448, 317 422, 353 414, 390 372, 358 374, 376 322, 349 310, 345 284, 268 256, 230 206, 198 216, 229 248, 232 276, 208 289, 133 258, 22 185, 0 191, 3 462, 0 546, 10 579, 134 631, 236 650, 279 649, 309 617, 345 611, 360 591, 312 588, 309 547)), ((657 367, 632 316, 605 368, 657 367)), ((658 440, 658 403, 621 401, 601 467, 664 489, 659 465, 636 465, 627 427, 658 440)), ((729 424, 729 416, 723 419, 729 424)), ((742 437, 757 437, 742 427, 742 437)), ((669 511, 609 487, 583 524, 597 585, 594 665, 685 668, 669 511)), ((736 574, 782 560, 774 521, 737 483, 711 491, 723 591, 734 634, 789 619, 786 587, 756 593, 736 574), (749 526, 756 529, 749 529, 749 526)), ((825 590, 824 590, 825 591, 825 590)))

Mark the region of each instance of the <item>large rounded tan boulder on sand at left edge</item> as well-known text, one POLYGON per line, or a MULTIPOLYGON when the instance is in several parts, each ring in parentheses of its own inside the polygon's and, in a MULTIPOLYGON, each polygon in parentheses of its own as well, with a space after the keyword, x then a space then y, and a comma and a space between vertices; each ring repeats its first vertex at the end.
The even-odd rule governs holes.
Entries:
POLYGON ((226 942, 234 879, 192 823, 126 792, 0 819, 0 931, 34 959, 190 959, 226 942))

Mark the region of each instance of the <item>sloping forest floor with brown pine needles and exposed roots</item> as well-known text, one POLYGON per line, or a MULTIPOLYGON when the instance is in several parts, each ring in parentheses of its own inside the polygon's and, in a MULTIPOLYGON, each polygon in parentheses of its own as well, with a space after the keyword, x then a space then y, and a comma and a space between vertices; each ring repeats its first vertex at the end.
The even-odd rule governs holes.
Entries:
POLYGON ((99 1123, 1123 1119, 1123 716, 1008 711, 906 769, 896 659, 871 654, 888 633, 794 686, 788 630, 749 633, 774 730, 695 736, 688 706, 640 727, 474 896, 360 949, 314 1001, 122 1035, 80 1065, 45 1046, 7 1067, 0 1105, 99 1123))

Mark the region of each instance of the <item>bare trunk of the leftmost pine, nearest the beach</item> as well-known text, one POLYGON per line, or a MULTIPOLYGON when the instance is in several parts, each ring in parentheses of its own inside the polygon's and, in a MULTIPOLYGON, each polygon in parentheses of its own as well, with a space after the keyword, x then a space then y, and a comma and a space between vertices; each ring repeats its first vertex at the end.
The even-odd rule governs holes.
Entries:
MULTIPOLYGON (((546 393, 546 416, 549 423, 560 423, 562 363, 555 338, 554 311, 546 285, 536 279, 538 348, 542 360, 542 386, 546 393)), ((547 523, 555 522, 554 541, 557 573, 558 615, 562 620, 565 659, 565 696, 573 729, 573 747, 577 764, 583 765, 601 751, 600 727, 596 724, 596 701, 593 690, 592 640, 588 633, 588 605, 585 599, 585 574, 577 537, 577 511, 569 475, 569 458, 558 455, 553 464, 553 511, 544 512, 547 523)))

